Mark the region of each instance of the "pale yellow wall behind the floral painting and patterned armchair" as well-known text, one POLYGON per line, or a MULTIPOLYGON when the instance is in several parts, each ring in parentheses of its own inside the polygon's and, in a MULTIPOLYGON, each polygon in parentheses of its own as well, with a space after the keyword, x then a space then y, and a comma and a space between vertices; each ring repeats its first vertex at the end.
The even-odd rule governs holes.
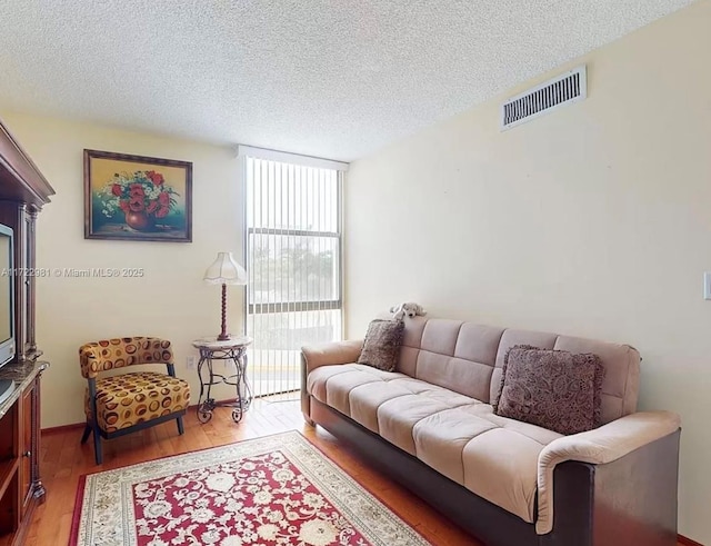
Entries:
MULTIPOLYGON (((242 201, 234 153, 91 123, 2 110, 0 118, 57 191, 38 219, 38 267, 144 269, 143 278, 37 279, 38 346, 51 363, 42 380, 42 427, 83 420, 86 380, 78 348, 106 337, 171 339, 177 374, 190 380, 196 401, 197 371, 186 366, 187 356, 197 355, 190 340, 220 330, 220 288, 206 285, 202 275, 218 251, 231 250, 241 261, 242 201), (192 161, 193 242, 86 240, 84 148, 192 161)), ((228 290, 228 324, 240 332, 243 288, 228 290)), ((219 389, 219 398, 228 396, 219 389)))

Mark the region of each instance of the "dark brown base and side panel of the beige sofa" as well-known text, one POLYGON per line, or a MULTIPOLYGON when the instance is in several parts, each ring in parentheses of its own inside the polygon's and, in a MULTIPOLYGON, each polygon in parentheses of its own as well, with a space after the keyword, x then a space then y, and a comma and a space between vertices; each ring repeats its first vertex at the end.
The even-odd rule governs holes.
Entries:
POLYGON ((554 526, 523 522, 450 480, 338 410, 307 397, 302 408, 373 466, 487 546, 675 546, 680 430, 608 465, 568 461, 554 474, 554 526))

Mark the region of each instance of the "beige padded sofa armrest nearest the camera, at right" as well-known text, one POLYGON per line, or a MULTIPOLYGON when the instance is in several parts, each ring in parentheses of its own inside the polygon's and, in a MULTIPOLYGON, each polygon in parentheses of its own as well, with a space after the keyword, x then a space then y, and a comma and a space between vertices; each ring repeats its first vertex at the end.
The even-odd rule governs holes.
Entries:
MULTIPOLYGON (((539 535, 553 528, 553 470, 567 460, 593 465, 612 463, 652 441, 675 433, 681 419, 671 411, 640 411, 594 430, 563 436, 543 448, 538 458, 539 535)), ((653 476, 650 476, 653 479, 653 476)))

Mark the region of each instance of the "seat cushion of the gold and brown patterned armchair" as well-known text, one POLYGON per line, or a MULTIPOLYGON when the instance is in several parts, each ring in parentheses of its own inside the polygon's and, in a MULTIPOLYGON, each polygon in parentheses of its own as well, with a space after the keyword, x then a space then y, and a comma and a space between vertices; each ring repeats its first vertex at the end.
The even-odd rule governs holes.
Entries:
MULTIPOLYGON (((188 381, 166 374, 138 371, 97 379, 97 420, 106 433, 181 411, 189 404, 188 381)), ((84 413, 91 419, 89 388, 84 413)))

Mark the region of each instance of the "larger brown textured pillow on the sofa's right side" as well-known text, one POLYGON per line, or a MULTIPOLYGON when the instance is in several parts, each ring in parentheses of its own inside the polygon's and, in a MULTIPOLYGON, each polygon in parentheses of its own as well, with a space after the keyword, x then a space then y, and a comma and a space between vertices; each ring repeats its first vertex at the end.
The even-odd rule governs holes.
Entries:
POLYGON ((560 434, 600 426, 604 367, 592 354, 511 347, 494 413, 560 434))

